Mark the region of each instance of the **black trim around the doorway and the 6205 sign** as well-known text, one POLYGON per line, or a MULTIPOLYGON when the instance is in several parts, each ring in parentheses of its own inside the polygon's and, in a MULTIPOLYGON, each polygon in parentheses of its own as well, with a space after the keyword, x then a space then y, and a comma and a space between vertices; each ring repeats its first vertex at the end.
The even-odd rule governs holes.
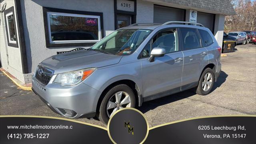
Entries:
POLYGON ((129 0, 134 2, 134 12, 128 12, 124 10, 117 10, 117 0, 114 0, 114 24, 115 24, 115 30, 117 29, 117 15, 120 16, 131 16, 131 24, 136 23, 136 14, 137 14, 137 0, 129 0))

